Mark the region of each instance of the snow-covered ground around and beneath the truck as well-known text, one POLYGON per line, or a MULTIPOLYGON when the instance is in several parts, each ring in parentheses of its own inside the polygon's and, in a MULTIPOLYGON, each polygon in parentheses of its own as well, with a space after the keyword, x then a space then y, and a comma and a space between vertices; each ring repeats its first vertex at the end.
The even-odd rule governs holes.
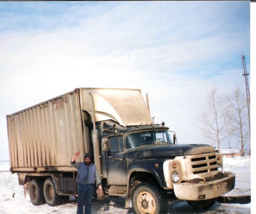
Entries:
MULTIPOLYGON (((231 171, 236 174, 235 189, 240 189, 240 193, 248 193, 251 189, 250 179, 250 157, 224 158, 224 171, 231 171)), ((17 174, 8 172, 9 162, 0 162, 0 213, 1 214, 75 214, 77 204, 74 197, 70 197, 68 204, 57 207, 50 207, 47 204, 34 206, 29 196, 24 198, 23 186, 18 184, 17 174), (4 172, 5 171, 5 172, 4 172)), ((238 191, 238 192, 239 192, 238 191)), ((231 193, 232 194, 232 193, 231 193)), ((237 193, 236 193, 237 194, 237 193)), ((102 201, 93 200, 92 213, 115 213, 132 214, 132 209, 124 209, 124 198, 106 198, 102 201)), ((251 213, 251 203, 249 204, 222 204, 216 203, 207 211, 195 210, 186 202, 179 202, 169 206, 169 213, 205 213, 205 214, 240 214, 251 213)))

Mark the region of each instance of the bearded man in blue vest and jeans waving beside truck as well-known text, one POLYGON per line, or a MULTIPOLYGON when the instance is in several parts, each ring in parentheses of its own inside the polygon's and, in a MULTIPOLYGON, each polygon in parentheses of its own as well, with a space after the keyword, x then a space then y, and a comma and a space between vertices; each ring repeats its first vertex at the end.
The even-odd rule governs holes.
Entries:
POLYGON ((96 166, 92 163, 92 157, 89 153, 84 156, 84 162, 75 162, 75 159, 79 156, 80 151, 74 154, 70 164, 78 169, 77 182, 78 182, 78 197, 77 197, 77 214, 83 214, 83 207, 85 214, 91 213, 91 204, 93 198, 94 188, 93 185, 96 180, 96 185, 99 190, 102 190, 101 178, 96 169, 96 166))

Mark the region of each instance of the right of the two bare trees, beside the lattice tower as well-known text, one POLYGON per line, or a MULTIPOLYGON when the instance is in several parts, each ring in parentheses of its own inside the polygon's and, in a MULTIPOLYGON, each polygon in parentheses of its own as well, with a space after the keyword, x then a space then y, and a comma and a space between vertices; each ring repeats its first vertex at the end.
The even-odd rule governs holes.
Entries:
POLYGON ((230 124, 230 134, 239 139, 241 143, 241 154, 245 155, 245 141, 249 138, 247 100, 237 86, 231 95, 227 96, 226 115, 230 124))

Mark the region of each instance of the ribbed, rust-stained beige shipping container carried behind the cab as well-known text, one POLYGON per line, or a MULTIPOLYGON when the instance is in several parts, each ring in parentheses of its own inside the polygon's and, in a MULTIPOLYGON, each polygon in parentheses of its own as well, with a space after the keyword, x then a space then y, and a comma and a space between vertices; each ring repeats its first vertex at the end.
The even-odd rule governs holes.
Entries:
POLYGON ((74 153, 88 151, 79 90, 7 115, 7 124, 13 172, 73 170, 74 153))

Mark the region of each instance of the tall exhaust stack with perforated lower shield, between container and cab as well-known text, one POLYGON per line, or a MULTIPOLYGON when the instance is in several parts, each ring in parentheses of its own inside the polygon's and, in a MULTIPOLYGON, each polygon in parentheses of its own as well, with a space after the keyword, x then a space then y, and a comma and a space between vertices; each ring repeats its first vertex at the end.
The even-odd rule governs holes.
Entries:
POLYGON ((89 93, 91 96, 91 101, 92 101, 92 116, 93 116, 93 153, 94 153, 94 163, 96 165, 96 168, 98 172, 101 173, 100 170, 100 159, 99 159, 99 141, 98 141, 98 134, 96 132, 96 123, 95 123, 95 109, 94 109, 94 100, 93 100, 93 95, 92 93, 89 93))

